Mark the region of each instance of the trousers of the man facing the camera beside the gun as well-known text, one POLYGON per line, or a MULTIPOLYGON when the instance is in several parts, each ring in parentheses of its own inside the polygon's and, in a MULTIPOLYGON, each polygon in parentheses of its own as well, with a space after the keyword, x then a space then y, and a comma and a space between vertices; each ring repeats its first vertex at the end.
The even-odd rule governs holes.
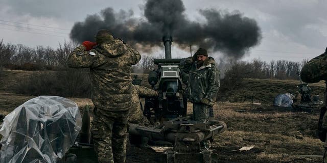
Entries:
POLYGON ((208 123, 210 107, 211 106, 203 103, 193 103, 193 119, 195 121, 208 123))

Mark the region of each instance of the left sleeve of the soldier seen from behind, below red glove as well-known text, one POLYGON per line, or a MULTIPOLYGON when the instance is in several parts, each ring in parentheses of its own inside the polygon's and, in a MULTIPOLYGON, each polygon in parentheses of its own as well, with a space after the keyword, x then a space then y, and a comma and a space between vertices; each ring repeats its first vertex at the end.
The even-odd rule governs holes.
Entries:
POLYGON ((98 59, 97 55, 90 55, 83 45, 76 47, 68 57, 68 66, 72 68, 91 67, 98 59))

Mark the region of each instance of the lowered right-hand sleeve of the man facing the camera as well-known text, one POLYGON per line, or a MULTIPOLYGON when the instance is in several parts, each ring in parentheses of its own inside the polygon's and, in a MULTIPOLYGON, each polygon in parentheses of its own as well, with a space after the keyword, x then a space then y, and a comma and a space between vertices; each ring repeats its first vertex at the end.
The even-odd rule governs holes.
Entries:
POLYGON ((220 72, 214 66, 213 68, 209 69, 208 71, 208 81, 209 81, 209 86, 208 86, 208 91, 205 96, 205 98, 211 100, 211 101, 216 101, 218 90, 220 87, 220 72))

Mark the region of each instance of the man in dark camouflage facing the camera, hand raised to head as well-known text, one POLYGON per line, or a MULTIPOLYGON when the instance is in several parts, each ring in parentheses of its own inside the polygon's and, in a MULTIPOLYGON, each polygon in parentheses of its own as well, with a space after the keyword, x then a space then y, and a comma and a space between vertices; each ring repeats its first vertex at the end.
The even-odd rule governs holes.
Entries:
POLYGON ((215 60, 208 57, 207 51, 199 48, 193 57, 180 63, 183 73, 189 74, 188 92, 193 103, 193 118, 208 123, 209 109, 214 105, 220 86, 220 72, 215 60))

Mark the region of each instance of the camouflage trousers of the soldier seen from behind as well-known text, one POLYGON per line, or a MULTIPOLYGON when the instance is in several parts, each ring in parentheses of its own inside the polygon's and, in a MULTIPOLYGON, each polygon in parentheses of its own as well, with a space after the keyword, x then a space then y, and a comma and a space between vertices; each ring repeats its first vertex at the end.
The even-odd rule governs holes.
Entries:
POLYGON ((110 112, 95 108, 92 138, 99 163, 125 162, 129 111, 110 112))

